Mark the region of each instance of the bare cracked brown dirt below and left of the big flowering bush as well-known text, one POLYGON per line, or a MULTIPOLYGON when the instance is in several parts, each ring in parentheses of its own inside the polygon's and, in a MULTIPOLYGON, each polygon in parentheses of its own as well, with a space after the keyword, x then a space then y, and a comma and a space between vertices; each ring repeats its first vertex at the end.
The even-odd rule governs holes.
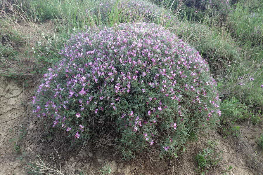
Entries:
MULTIPOLYGON (((37 132, 41 132, 39 131, 41 123, 37 123, 28 106, 37 83, 31 81, 27 87, 23 84, 23 81, 21 83, 12 79, 0 79, 0 175, 30 174, 28 169, 32 166, 29 161, 35 162, 37 157, 30 153, 29 148, 41 154, 38 151, 43 147, 39 140, 32 139, 37 132)), ((262 152, 256 144, 258 136, 262 133, 262 125, 251 125, 249 122, 240 125, 242 141, 225 139, 218 131, 211 131, 200 136, 197 142, 189 142, 184 154, 176 160, 157 159, 151 164, 146 160, 142 164, 136 164, 108 159, 102 153, 82 149, 69 153, 66 158, 60 156, 61 168, 58 169, 65 175, 81 173, 97 175, 101 174, 99 171, 105 166, 110 167, 113 175, 193 175, 200 173, 196 171, 197 163, 194 158, 200 149, 209 146, 207 142, 209 140, 213 143, 213 149, 222 156, 222 160, 218 169, 211 170, 207 174, 222 174, 219 170, 231 165, 233 169, 227 174, 254 175, 255 164, 248 160, 244 152, 257 151, 255 155, 262 157, 262 152)), ((49 160, 52 164, 52 159, 46 157, 43 159, 49 160)))

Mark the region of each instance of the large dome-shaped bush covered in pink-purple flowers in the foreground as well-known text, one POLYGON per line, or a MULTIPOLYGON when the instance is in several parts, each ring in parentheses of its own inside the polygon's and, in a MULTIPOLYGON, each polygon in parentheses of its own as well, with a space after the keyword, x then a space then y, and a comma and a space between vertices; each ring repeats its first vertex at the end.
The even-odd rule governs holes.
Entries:
POLYGON ((207 62, 155 24, 90 28, 72 36, 44 74, 33 105, 74 141, 172 155, 220 115, 207 62))

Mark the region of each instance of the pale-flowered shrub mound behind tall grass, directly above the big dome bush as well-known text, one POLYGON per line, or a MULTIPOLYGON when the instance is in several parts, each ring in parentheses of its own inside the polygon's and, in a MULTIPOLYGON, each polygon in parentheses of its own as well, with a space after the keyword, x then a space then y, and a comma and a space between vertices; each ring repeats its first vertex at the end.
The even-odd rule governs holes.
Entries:
POLYGON ((103 0, 97 8, 86 10, 88 15, 95 15, 101 21, 117 18, 120 22, 163 22, 170 25, 179 22, 164 8, 144 0, 103 0))

